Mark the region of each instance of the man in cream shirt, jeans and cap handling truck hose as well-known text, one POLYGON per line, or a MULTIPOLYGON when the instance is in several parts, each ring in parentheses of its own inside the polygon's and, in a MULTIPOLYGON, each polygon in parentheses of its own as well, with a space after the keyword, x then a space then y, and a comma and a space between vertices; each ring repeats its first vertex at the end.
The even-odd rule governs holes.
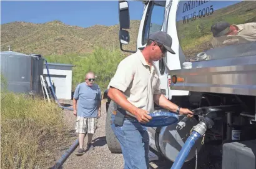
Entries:
POLYGON ((154 61, 171 49, 172 38, 166 32, 150 34, 147 46, 122 60, 109 84, 108 96, 117 105, 112 111, 111 128, 124 156, 124 168, 149 168, 149 135, 140 123, 152 119, 154 102, 164 109, 192 117, 160 94, 160 80, 154 61), (118 122, 117 122, 118 121, 118 122))

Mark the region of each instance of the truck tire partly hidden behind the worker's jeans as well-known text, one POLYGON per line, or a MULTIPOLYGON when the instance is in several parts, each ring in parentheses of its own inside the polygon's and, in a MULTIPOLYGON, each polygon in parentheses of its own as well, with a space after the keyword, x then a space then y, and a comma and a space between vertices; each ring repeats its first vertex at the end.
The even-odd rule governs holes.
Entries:
POLYGON ((114 132, 111 128, 111 115, 112 110, 114 110, 114 102, 111 101, 111 103, 108 106, 107 109, 107 117, 106 117, 106 140, 107 140, 107 147, 109 147, 109 150, 111 153, 122 153, 121 146, 119 141, 116 138, 116 135, 114 135, 114 132))

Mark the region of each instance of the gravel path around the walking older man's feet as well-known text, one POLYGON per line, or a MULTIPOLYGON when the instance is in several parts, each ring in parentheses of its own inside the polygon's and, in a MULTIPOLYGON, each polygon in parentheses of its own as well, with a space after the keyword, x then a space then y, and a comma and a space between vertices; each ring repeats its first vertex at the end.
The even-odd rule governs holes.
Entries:
MULTIPOLYGON (((86 152, 82 156, 76 156, 74 152, 66 160, 63 168, 123 168, 122 154, 112 154, 107 148, 106 135, 105 135, 105 122, 106 122, 106 104, 102 103, 101 118, 98 120, 98 128, 92 142, 94 143, 94 150, 86 152)), ((70 124, 71 130, 74 131, 76 117, 72 111, 64 111, 67 123, 70 124)), ((74 131, 75 132, 75 131, 74 131)), ((74 141, 77 139, 74 137, 74 141)), ((86 147, 87 137, 84 140, 86 147)), ((75 152, 77 149, 75 150, 75 152)))

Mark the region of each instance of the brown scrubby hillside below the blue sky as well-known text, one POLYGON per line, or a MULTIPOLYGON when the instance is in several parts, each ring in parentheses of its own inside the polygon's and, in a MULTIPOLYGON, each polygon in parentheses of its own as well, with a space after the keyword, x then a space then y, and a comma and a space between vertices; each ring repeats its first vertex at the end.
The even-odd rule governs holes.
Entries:
MULTIPOLYGON (((134 50, 137 41, 139 21, 130 22, 130 44, 126 49, 134 50)), ((1 25, 1 51, 24 54, 86 54, 94 47, 119 49, 119 25, 91 27, 69 26, 61 21, 33 24, 29 22, 11 22, 1 25)))

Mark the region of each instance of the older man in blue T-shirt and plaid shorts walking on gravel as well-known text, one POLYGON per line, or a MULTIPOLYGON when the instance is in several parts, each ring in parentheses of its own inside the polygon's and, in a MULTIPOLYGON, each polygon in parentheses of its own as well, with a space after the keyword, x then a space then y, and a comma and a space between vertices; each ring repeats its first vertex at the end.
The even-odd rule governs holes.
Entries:
POLYGON ((93 72, 86 74, 86 81, 77 85, 74 92, 73 106, 76 119, 76 132, 79 138, 79 149, 76 155, 83 155, 84 137, 88 135, 87 150, 94 149, 92 137, 97 128, 97 118, 101 117, 101 89, 94 84, 93 72))

